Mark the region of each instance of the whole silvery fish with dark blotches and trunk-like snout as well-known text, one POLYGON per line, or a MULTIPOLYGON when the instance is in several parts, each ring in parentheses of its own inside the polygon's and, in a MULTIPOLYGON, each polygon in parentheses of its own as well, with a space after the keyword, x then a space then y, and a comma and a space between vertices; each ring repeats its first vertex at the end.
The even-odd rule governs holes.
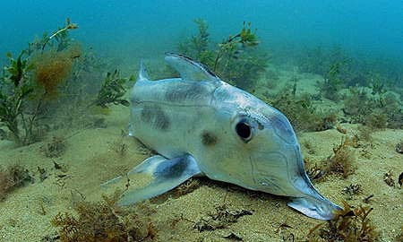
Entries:
POLYGON ((166 61, 180 78, 150 81, 141 64, 133 87, 130 135, 159 155, 127 174, 146 174, 150 182, 130 186, 120 204, 163 194, 203 175, 290 196, 288 205, 309 217, 333 217, 340 208, 319 194, 307 177, 287 117, 190 58, 167 54, 166 61))

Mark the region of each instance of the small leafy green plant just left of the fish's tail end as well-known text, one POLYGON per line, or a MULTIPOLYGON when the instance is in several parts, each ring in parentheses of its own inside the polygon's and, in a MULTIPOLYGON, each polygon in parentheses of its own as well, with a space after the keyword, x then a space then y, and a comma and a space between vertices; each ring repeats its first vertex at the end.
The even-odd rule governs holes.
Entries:
POLYGON ((121 78, 118 70, 115 70, 114 73, 107 73, 105 82, 102 84, 94 104, 101 108, 108 108, 110 104, 121 104, 128 107, 130 105, 129 101, 123 98, 126 93, 124 84, 128 81, 133 81, 133 76, 121 78))

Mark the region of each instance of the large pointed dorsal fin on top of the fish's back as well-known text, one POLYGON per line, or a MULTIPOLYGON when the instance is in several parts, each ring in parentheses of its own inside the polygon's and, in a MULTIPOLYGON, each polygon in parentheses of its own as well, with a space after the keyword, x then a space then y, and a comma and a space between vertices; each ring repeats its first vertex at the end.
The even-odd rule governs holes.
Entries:
POLYGON ((204 65, 193 61, 193 59, 176 55, 173 53, 166 53, 165 60, 168 65, 171 65, 181 75, 182 80, 188 81, 208 81, 217 82, 219 77, 204 65))

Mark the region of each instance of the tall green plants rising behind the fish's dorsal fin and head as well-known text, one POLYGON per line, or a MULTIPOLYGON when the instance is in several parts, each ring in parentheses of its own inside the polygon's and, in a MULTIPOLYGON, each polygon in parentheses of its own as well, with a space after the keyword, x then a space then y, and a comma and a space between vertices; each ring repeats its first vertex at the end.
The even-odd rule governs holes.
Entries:
POLYGON ((259 75, 265 71, 268 61, 267 54, 262 49, 256 49, 259 41, 251 23, 244 22, 238 33, 210 49, 207 23, 201 19, 195 22, 199 27, 198 35, 180 43, 179 52, 207 65, 227 82, 251 89, 259 75))

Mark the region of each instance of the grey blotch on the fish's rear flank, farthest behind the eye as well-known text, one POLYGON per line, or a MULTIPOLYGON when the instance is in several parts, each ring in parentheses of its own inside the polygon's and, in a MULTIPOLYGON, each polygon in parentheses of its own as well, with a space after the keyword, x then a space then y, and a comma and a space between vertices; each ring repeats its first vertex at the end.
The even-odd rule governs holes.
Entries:
POLYGON ((169 117, 157 105, 146 105, 141 110, 141 120, 159 130, 167 130, 170 126, 169 117))

